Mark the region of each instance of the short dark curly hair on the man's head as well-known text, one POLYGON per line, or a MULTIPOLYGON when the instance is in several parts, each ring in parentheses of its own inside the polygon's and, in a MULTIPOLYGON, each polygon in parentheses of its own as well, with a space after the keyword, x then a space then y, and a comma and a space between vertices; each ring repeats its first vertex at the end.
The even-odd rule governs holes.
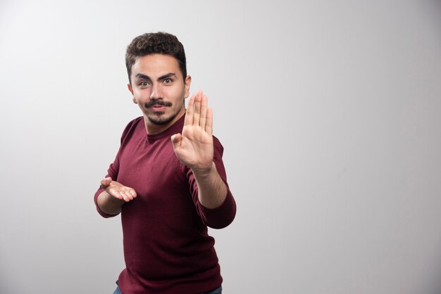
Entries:
POLYGON ((130 79, 132 66, 135 64, 136 58, 156 53, 166 54, 176 58, 182 72, 182 77, 185 80, 185 77, 187 77, 187 61, 185 60, 184 46, 182 46, 181 42, 173 34, 154 32, 136 37, 125 51, 125 67, 127 68, 130 84, 132 84, 130 79))

